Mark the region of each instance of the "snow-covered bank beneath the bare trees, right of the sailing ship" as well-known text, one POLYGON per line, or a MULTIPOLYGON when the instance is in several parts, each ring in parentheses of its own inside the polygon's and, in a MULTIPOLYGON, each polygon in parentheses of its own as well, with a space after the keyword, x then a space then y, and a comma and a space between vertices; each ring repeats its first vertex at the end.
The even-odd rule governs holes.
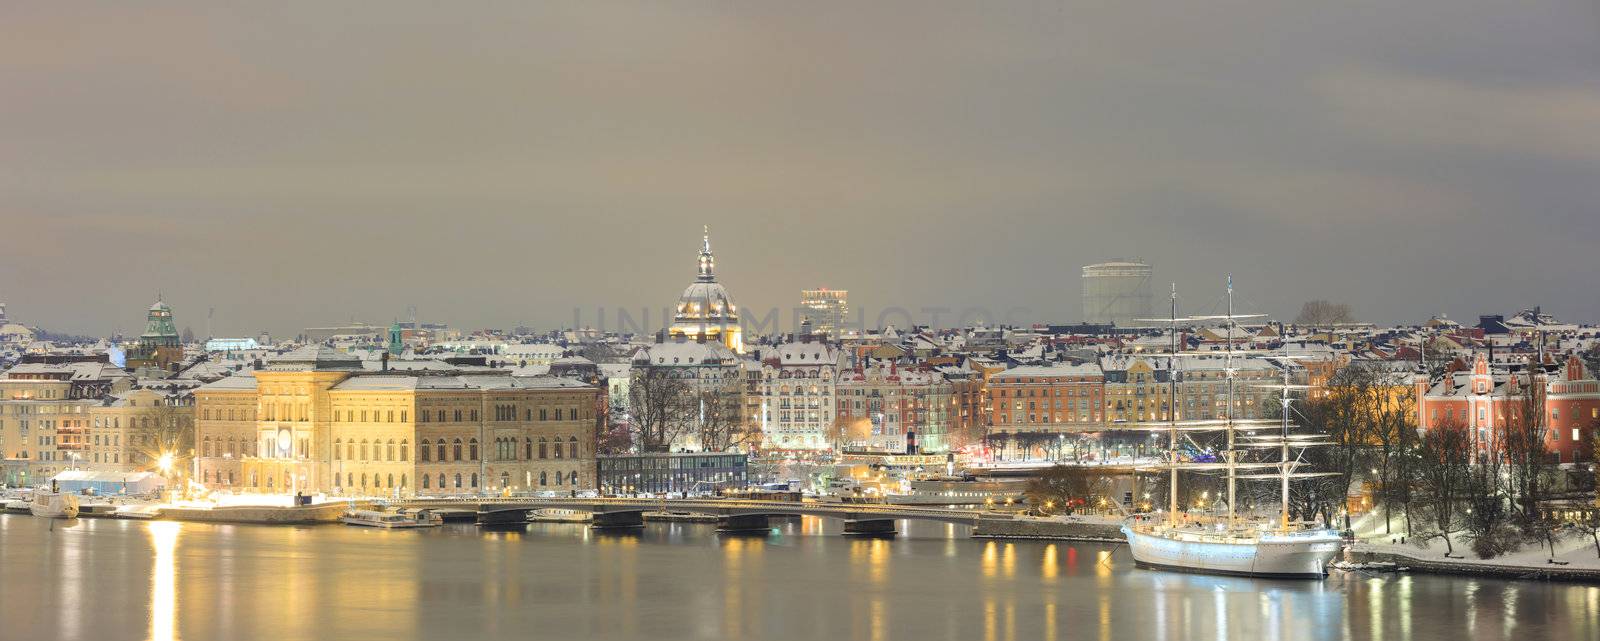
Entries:
POLYGON ((1595 553, 1594 539, 1587 534, 1563 532, 1562 537, 1555 540, 1555 561, 1565 564, 1552 564, 1549 563, 1550 550, 1544 545, 1544 542, 1526 542, 1522 550, 1491 559, 1480 559, 1474 555, 1472 543, 1469 543, 1462 534, 1451 537, 1454 556, 1461 558, 1446 558, 1445 542, 1440 539, 1429 540, 1426 545, 1416 545, 1411 539, 1400 543, 1398 540, 1405 534, 1405 523, 1400 520, 1400 515, 1395 515, 1395 521, 1392 524, 1394 532, 1384 534, 1384 515, 1378 510, 1350 521, 1350 529, 1355 531, 1357 539, 1357 543, 1350 548, 1350 551, 1400 555, 1430 563, 1526 567, 1530 571, 1557 567, 1600 571, 1600 555, 1595 553))

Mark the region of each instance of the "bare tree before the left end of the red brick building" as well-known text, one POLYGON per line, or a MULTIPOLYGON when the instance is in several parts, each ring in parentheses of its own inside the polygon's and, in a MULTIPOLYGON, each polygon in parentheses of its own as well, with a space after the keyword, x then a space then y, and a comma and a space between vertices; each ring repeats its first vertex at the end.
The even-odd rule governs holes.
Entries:
POLYGON ((1445 539, 1445 555, 1454 555, 1450 535, 1461 531, 1461 500, 1472 481, 1472 435, 1456 420, 1422 435, 1416 459, 1416 497, 1426 505, 1432 532, 1445 539))

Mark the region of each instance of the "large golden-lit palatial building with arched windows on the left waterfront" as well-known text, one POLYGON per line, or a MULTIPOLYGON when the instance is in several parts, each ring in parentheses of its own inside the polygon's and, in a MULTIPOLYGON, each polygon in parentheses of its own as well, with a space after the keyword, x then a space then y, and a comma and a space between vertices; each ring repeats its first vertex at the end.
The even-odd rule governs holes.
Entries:
POLYGON ((195 390, 198 475, 254 492, 592 489, 600 393, 562 377, 368 371, 302 347, 195 390))

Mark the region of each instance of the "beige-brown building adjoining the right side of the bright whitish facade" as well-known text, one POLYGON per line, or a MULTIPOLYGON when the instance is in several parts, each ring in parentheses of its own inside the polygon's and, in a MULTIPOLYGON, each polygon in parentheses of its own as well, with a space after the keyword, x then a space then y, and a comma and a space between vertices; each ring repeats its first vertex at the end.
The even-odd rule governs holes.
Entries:
POLYGON ((931 369, 877 361, 845 369, 835 387, 838 444, 851 451, 942 452, 955 400, 931 369))

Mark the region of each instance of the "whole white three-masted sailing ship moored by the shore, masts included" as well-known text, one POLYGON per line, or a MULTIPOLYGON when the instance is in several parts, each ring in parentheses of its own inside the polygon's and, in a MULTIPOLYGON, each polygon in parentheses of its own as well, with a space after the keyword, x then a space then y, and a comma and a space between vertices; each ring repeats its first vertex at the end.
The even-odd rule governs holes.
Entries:
MULTIPOLYGON (((1174 569, 1205 574, 1234 574, 1253 577, 1298 577, 1322 579, 1326 575, 1326 564, 1342 547, 1339 532, 1318 528, 1314 523, 1294 523, 1290 520, 1290 481, 1294 478, 1325 476, 1330 473, 1301 472, 1306 464, 1298 454, 1306 448, 1322 443, 1315 435, 1290 433, 1290 393, 1302 390, 1306 385, 1290 384, 1290 368, 1283 368, 1283 382, 1267 385, 1282 390, 1282 420, 1235 419, 1234 400, 1234 358, 1240 352, 1234 348, 1234 337, 1240 318, 1259 315, 1234 313, 1234 278, 1227 278, 1227 315, 1221 317, 1178 317, 1178 288, 1173 286, 1171 318, 1160 321, 1171 323, 1173 364, 1181 355, 1178 331, 1181 326, 1221 324, 1226 331, 1224 344, 1224 379, 1227 384, 1227 409, 1221 419, 1182 420, 1178 416, 1178 377, 1170 376, 1171 404, 1166 422, 1131 424, 1130 428, 1166 432, 1166 462, 1155 468, 1166 470, 1168 508, 1165 518, 1160 515, 1136 515, 1122 526, 1128 537, 1128 548, 1139 566, 1174 569), (1274 425, 1275 424, 1275 425, 1274 425), (1277 427, 1275 435, 1256 435, 1258 430, 1277 427), (1179 438, 1187 433, 1222 432, 1226 446, 1219 451, 1216 462, 1186 462, 1179 456, 1179 438), (1240 432, 1245 432, 1243 435, 1240 432), (1246 451, 1278 451, 1275 462, 1242 462, 1238 456, 1246 451), (1187 515, 1178 508, 1178 472, 1179 470, 1219 470, 1227 475, 1227 515, 1200 516, 1187 515), (1240 473, 1242 470, 1248 473, 1240 473), (1237 513, 1238 481, 1277 480, 1280 508, 1277 518, 1240 516, 1237 513)), ((1176 369, 1174 369, 1176 374, 1176 369)))

